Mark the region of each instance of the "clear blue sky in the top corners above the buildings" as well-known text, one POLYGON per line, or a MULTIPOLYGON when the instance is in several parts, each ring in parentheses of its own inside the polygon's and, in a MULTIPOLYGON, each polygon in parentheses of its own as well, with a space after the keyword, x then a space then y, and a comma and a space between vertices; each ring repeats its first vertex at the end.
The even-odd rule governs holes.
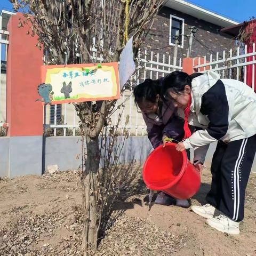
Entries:
MULTIPOLYGON (((207 10, 225 15, 228 18, 245 21, 256 16, 256 0, 187 0, 207 10)), ((9 0, 0 0, 0 10, 12 9, 9 0)))

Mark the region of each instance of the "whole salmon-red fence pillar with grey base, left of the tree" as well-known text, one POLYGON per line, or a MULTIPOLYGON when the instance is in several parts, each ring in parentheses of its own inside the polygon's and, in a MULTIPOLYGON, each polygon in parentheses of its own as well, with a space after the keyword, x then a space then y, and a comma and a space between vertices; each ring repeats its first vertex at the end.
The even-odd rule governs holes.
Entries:
POLYGON ((18 27, 21 13, 8 23, 6 119, 9 123, 9 177, 42 174, 43 106, 37 86, 41 81, 43 51, 37 37, 26 35, 29 24, 18 27))

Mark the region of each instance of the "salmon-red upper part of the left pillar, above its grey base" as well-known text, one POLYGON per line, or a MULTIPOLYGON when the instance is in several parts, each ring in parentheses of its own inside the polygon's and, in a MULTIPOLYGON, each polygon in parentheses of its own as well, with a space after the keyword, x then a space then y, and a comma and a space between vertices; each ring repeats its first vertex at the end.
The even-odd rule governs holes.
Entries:
POLYGON ((23 15, 12 15, 8 23, 9 47, 7 53, 7 136, 34 136, 43 134, 43 106, 37 86, 41 82, 43 50, 35 45, 37 37, 26 35, 29 27, 18 28, 23 15))

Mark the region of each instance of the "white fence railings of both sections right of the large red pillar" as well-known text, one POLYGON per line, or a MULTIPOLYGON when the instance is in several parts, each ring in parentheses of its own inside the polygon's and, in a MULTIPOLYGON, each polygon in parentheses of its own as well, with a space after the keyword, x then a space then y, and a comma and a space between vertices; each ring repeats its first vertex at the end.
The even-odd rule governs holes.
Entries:
MULTIPOLYGON (((95 50, 95 49, 93 49, 95 50)), ((223 51, 221 53, 217 52, 214 56, 210 54, 207 59, 206 56, 203 58, 194 59, 193 68, 196 71, 205 72, 206 70, 216 71, 221 75, 221 78, 233 78, 244 83, 247 83, 254 87, 255 85, 255 44, 250 46, 250 51, 248 51, 248 46, 236 47, 235 49, 230 49, 229 51, 223 51), (197 63, 195 61, 197 60, 197 63), (251 73, 249 73, 249 69, 251 73), (250 74, 250 78, 248 77, 250 74)), ((94 57, 97 55, 94 55, 94 57)), ((101 60, 98 58, 98 60, 101 60)), ((160 55, 159 53, 154 53, 153 51, 143 51, 139 52, 137 59, 137 71, 132 77, 126 90, 116 103, 114 108, 114 114, 111 115, 112 124, 117 124, 118 116, 121 114, 122 109, 118 109, 120 105, 125 105, 124 111, 122 112, 121 122, 119 122, 120 132, 124 129, 128 129, 130 135, 145 135, 146 125, 143 121, 142 115, 138 113, 137 108, 134 104, 134 97, 132 94, 133 87, 146 78, 158 79, 166 74, 169 74, 174 70, 182 70, 181 59, 178 61, 179 65, 171 65, 170 55, 160 55), (129 122, 125 124, 126 116, 129 116, 129 122)), ((255 87, 256 89, 256 87, 255 87)), ((55 107, 57 110, 57 108, 55 107)), ((78 118, 76 117, 76 112, 73 105, 62 106, 63 118, 62 124, 58 124, 56 113, 54 111, 54 124, 46 125, 50 129, 53 129, 53 135, 58 135, 57 130, 60 131, 61 135, 76 135, 78 134, 78 118), (73 110, 71 109, 73 108, 73 110), (69 110, 67 110, 69 109, 69 110), (70 115, 73 117, 70 117, 70 115), (63 131, 61 131, 61 129, 63 131), (69 129, 69 133, 67 130, 69 129), (76 130, 77 129, 77 130, 76 130)), ((49 118, 48 118, 49 120, 49 118)))

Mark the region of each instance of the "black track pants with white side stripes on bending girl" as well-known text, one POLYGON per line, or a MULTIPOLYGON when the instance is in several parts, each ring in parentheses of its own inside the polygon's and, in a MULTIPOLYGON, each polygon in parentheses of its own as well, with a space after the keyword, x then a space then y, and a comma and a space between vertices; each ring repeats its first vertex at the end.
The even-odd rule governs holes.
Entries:
POLYGON ((255 151, 256 134, 228 144, 219 141, 212 158, 212 185, 206 201, 234 221, 244 218, 245 189, 255 151))

